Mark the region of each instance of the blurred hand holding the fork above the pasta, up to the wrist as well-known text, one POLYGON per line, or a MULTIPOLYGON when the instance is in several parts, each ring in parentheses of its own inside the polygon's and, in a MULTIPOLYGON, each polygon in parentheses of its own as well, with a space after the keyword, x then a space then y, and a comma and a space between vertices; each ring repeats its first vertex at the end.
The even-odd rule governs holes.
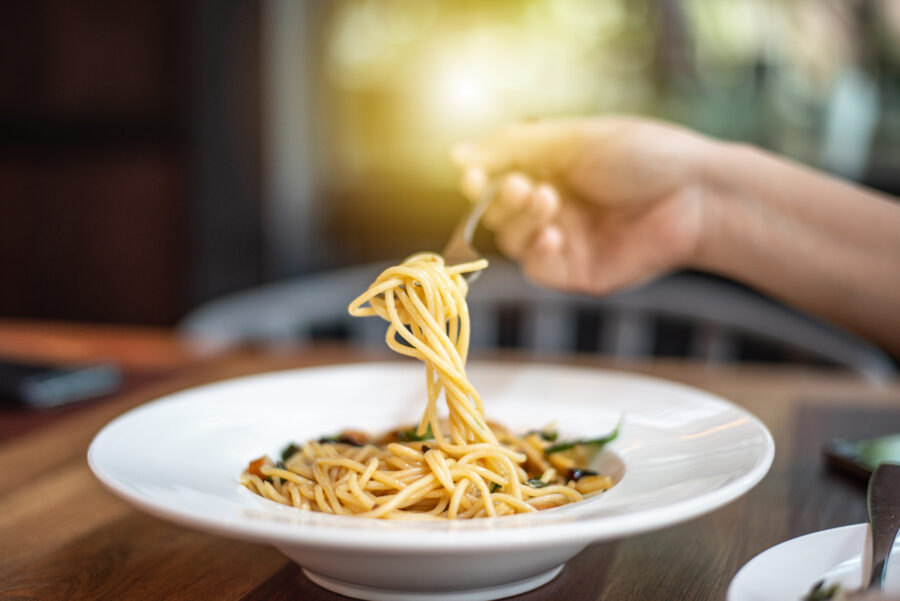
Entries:
POLYGON ((501 251, 536 283, 604 294, 686 266, 705 211, 712 140, 638 118, 531 122, 461 144, 453 160, 501 251))

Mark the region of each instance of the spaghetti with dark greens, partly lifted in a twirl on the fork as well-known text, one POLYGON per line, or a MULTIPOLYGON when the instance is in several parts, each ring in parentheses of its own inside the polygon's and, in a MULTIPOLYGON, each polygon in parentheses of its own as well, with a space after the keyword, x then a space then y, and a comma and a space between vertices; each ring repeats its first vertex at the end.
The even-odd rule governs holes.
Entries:
POLYGON ((388 268, 349 306, 388 321, 394 351, 425 363, 428 402, 419 423, 380 440, 346 431, 291 445, 282 461, 261 457, 241 482, 279 503, 338 515, 458 519, 531 512, 579 501, 612 486, 577 467, 615 437, 554 444, 555 433, 518 437, 488 423, 466 377, 469 347, 464 275, 486 260, 447 266, 420 253, 388 268), (446 401, 441 419, 438 401, 446 401))

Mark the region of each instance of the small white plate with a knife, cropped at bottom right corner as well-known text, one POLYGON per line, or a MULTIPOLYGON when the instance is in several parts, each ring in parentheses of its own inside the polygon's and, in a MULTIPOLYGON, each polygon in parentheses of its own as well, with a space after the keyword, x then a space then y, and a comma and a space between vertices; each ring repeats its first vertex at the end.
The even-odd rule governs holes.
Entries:
MULTIPOLYGON (((792 538, 766 549, 740 569, 728 587, 728 601, 799 601, 812 585, 826 576, 847 591, 860 587, 862 551, 868 524, 841 526, 792 538)), ((891 563, 900 557, 900 539, 894 541, 891 563)), ((900 598, 900 566, 888 564, 885 592, 900 598)))

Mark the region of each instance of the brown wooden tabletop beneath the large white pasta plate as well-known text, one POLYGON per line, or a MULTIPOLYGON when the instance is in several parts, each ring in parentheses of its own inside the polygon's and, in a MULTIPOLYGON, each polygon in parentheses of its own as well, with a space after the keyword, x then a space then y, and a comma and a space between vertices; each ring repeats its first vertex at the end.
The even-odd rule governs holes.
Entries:
MULTIPOLYGON (((265 545, 186 530, 108 493, 85 454, 110 419, 140 403, 226 377, 386 355, 343 346, 215 352, 164 330, 0 321, 0 356, 112 358, 123 389, 28 413, 0 410, 0 599, 343 599, 265 545)), ((506 356, 510 360, 532 360, 506 356)), ((595 357, 555 361, 610 367, 595 357)), ((765 479, 690 522, 589 547, 521 599, 723 599, 735 572, 778 542, 865 520, 864 486, 827 471, 831 436, 900 431, 900 382, 798 368, 710 369, 677 361, 614 367, 671 378, 732 399, 772 431, 765 479)))

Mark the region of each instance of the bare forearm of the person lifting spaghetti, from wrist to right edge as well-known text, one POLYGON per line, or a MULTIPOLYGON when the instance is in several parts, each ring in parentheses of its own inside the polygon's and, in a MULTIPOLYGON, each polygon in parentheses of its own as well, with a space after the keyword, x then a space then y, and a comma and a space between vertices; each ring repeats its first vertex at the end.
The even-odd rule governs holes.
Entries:
POLYGON ((900 356, 900 204, 762 151, 716 145, 696 266, 900 356))

